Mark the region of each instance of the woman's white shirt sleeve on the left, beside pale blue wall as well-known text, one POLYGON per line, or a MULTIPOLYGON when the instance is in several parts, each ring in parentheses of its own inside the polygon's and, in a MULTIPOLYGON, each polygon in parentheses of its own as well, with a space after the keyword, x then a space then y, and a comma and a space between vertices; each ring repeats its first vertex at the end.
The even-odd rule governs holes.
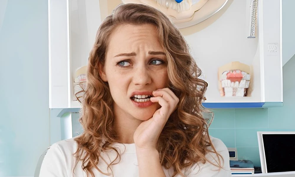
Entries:
POLYGON ((67 177, 65 155, 59 145, 53 144, 44 156, 39 177, 67 177))

